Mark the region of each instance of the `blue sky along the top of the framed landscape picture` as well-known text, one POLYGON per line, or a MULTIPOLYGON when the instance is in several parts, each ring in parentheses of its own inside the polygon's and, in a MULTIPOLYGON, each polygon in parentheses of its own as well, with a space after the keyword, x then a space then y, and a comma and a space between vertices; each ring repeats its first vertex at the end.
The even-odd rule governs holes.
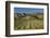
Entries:
POLYGON ((43 9, 14 8, 14 13, 43 13, 43 9))

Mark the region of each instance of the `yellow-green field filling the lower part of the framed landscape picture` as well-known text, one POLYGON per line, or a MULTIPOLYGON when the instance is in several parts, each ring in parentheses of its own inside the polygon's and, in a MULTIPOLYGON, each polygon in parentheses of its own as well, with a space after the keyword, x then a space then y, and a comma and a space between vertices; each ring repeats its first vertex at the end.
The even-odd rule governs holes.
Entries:
POLYGON ((43 29, 43 18, 35 18, 30 16, 14 17, 14 30, 23 29, 43 29))

